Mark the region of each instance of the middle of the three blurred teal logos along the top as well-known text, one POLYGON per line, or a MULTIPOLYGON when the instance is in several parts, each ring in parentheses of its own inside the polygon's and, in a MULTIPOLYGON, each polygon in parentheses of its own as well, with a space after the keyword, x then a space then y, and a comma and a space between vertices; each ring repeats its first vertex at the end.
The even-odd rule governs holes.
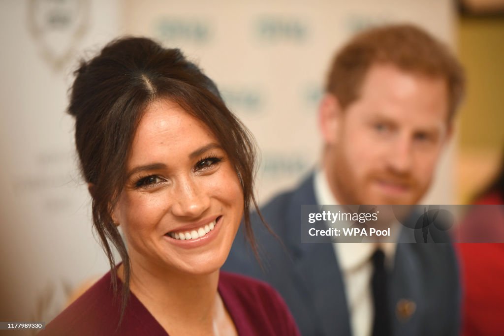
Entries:
POLYGON ((308 37, 308 25, 299 18, 264 16, 257 19, 256 32, 267 42, 304 42, 308 37))

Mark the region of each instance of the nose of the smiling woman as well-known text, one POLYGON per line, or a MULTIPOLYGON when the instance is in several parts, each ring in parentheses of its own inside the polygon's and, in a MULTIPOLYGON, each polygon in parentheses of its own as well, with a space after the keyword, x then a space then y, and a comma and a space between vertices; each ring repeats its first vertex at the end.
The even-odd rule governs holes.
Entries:
POLYGON ((173 191, 171 211, 175 216, 200 217, 210 207, 208 193, 193 177, 178 180, 173 191))

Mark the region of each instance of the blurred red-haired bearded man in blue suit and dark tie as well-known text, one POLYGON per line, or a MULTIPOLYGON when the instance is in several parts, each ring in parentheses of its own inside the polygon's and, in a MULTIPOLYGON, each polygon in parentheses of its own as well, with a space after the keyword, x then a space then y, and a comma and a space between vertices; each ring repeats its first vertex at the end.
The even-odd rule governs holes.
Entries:
POLYGON ((321 165, 262 208, 261 270, 240 239, 224 265, 273 285, 303 335, 457 335, 451 244, 302 244, 301 205, 416 204, 462 98, 460 64, 411 25, 374 28, 337 54, 319 108, 321 165))

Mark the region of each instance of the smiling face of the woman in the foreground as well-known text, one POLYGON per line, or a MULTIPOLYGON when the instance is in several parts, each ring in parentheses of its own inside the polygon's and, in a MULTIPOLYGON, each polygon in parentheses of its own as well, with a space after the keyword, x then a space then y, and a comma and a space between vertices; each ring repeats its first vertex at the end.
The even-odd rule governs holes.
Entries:
POLYGON ((137 274, 217 270, 236 235, 243 193, 209 127, 170 100, 152 102, 137 126, 127 169, 112 219, 122 227, 132 263, 142 265, 137 274))

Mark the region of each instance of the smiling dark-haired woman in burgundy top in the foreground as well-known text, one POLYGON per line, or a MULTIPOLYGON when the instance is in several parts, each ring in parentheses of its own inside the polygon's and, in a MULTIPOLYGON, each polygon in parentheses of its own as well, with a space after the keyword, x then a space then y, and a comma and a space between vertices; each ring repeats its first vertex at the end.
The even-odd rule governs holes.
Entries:
POLYGON ((256 251, 255 144, 194 63, 113 41, 76 71, 69 113, 111 270, 40 334, 298 334, 271 287, 219 271, 242 219, 256 251))

